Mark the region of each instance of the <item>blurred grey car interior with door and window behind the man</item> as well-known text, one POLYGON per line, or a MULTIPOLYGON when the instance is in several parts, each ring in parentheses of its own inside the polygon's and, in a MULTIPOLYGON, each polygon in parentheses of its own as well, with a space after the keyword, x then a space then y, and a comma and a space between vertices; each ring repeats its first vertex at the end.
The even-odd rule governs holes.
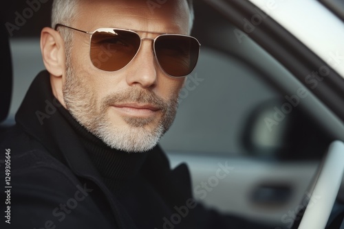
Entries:
MULTIPOLYGON (((10 37, 6 22, 28 5, 7 4, 1 11, 1 133, 14 125, 30 82, 44 69, 39 36, 50 26, 51 7, 42 3, 10 37)), ((194 7, 191 35, 202 45, 200 60, 160 145, 171 167, 189 165, 195 198, 208 208, 290 228, 288 219, 297 217, 330 143, 344 141, 344 79, 331 71, 316 88, 305 82, 325 61, 250 1, 203 0, 194 7), (253 14, 264 21, 244 33, 242 19, 253 14), (200 195, 201 182, 219 164, 233 172, 200 195)), ((343 206, 344 180, 334 208, 343 206)))

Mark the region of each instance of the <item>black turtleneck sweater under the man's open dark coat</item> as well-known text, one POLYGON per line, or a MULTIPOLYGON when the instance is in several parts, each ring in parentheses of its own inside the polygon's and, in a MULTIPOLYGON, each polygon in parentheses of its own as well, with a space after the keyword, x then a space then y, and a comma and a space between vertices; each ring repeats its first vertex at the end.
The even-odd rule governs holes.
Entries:
POLYGON ((149 152, 129 153, 111 149, 80 125, 63 106, 57 106, 57 110, 76 132, 107 188, 127 208, 133 221, 140 222, 138 227, 153 228, 155 221, 161 221, 162 226, 163 218, 173 215, 171 208, 174 206, 166 205, 164 197, 140 174, 149 152))

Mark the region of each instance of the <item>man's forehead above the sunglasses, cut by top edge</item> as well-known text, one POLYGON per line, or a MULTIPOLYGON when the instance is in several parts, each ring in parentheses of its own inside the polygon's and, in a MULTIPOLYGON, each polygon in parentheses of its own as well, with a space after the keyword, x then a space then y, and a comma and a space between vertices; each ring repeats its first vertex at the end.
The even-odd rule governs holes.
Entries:
POLYGON ((87 31, 100 27, 118 27, 188 34, 189 17, 186 0, 80 0, 75 23, 87 31))

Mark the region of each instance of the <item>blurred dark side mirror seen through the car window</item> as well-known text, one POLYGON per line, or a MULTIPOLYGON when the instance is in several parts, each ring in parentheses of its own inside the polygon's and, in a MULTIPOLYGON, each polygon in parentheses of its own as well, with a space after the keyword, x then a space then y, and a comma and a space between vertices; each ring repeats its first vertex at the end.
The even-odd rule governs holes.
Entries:
POLYGON ((320 159, 332 141, 302 106, 273 99, 252 109, 241 143, 248 154, 285 160, 320 159))

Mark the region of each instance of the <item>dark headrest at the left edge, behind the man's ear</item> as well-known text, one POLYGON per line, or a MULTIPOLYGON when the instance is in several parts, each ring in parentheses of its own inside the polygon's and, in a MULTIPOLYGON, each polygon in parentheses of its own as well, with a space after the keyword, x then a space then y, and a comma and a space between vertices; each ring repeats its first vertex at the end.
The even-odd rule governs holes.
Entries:
POLYGON ((0 25, 0 122, 5 120, 10 110, 12 96, 12 58, 8 31, 2 18, 0 25))

